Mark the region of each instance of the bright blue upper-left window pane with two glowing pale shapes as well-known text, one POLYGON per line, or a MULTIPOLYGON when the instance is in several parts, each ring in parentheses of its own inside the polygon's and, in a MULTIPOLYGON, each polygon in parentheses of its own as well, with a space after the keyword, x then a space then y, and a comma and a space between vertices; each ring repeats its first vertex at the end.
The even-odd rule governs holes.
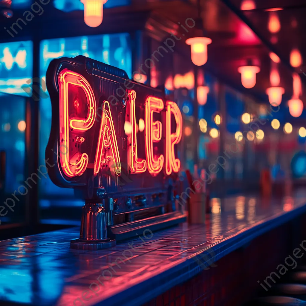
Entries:
POLYGON ((31 95, 32 41, 0 43, 0 93, 31 95))

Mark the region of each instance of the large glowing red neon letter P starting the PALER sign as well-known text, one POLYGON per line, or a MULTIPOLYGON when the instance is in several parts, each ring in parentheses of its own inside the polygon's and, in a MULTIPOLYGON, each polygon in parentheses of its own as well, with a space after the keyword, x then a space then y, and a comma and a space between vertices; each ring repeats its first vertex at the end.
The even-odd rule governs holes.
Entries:
MULTIPOLYGON (((68 177, 82 175, 88 165, 88 155, 75 151, 70 158, 71 149, 69 146, 69 131, 73 133, 82 133, 88 131, 94 124, 94 114, 96 112, 95 96, 90 84, 78 73, 63 69, 58 76, 59 86, 59 125, 61 146, 65 147, 65 151, 60 150, 60 161, 62 170, 68 177), (86 104, 88 112, 86 119, 76 117, 69 118, 69 89, 70 91, 81 88, 86 95, 86 104)), ((79 103, 79 102, 77 102, 79 103)))

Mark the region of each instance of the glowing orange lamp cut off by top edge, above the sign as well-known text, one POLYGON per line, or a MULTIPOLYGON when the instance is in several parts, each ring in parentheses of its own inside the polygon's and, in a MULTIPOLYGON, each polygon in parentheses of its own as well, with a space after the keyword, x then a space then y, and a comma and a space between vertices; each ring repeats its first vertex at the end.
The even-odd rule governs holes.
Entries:
POLYGON ((84 22, 91 28, 103 21, 103 5, 107 0, 80 0, 84 4, 84 22))

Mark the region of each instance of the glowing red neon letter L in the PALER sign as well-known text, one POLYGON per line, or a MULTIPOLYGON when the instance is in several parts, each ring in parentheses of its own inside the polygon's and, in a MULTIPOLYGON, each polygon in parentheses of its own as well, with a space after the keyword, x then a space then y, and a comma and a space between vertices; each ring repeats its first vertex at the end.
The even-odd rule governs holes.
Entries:
MULTIPOLYGON (((147 170, 147 162, 138 158, 137 150, 137 131, 136 131, 136 113, 135 99, 136 91, 129 91, 129 101, 126 105, 125 121, 131 125, 131 133, 128 136, 128 165, 131 173, 143 173, 147 170)), ((140 122, 140 120, 139 120, 140 122)))

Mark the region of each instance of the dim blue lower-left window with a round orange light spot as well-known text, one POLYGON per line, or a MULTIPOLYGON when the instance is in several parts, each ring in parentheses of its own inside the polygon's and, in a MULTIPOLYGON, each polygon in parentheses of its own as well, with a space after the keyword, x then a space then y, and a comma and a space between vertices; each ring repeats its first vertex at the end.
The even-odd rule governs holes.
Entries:
MULTIPOLYGON (((25 102, 26 99, 21 96, 0 95, 1 203, 8 198, 13 198, 12 193, 17 191, 21 185, 25 185, 25 102)), ((21 193, 25 192, 23 188, 20 190, 21 193)), ((14 198, 9 200, 9 205, 13 204, 12 201, 15 201, 16 205, 13 212, 9 210, 5 216, 0 217, 2 224, 21 221, 24 218, 25 196, 18 192, 16 196, 19 199, 18 204, 14 198)), ((2 213, 5 214, 5 212, 2 213)))

